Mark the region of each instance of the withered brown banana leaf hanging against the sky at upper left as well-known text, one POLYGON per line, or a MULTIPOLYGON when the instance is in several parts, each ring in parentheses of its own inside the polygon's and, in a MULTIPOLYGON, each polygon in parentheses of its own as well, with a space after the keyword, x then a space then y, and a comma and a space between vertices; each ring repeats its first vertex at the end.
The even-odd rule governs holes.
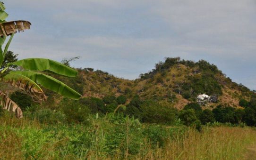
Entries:
POLYGON ((17 31, 20 32, 30 29, 30 25, 30 22, 21 20, 0 23, 0 36, 9 36, 17 31))

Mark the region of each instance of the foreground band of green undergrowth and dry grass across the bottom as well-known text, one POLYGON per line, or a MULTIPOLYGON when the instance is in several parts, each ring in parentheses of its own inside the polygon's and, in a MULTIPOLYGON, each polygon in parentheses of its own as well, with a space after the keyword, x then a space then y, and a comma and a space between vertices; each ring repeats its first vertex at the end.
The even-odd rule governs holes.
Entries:
POLYGON ((141 124, 121 115, 91 117, 87 124, 39 123, 0 116, 2 159, 243 159, 256 142, 249 127, 207 127, 202 131, 141 124))

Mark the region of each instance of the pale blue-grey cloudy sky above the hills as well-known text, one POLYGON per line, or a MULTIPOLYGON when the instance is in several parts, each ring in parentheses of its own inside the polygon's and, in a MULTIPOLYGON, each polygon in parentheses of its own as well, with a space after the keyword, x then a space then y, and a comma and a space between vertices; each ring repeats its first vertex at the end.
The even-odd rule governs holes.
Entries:
POLYGON ((7 20, 28 20, 9 50, 18 58, 80 56, 136 79, 164 57, 204 59, 256 89, 256 0, 2 0, 7 20))

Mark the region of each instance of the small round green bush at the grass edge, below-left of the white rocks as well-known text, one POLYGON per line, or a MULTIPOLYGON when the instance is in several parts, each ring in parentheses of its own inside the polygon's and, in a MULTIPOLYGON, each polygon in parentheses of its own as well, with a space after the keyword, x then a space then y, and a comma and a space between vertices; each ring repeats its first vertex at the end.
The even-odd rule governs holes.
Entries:
POLYGON ((179 112, 179 118, 184 122, 186 126, 191 126, 196 122, 196 112, 194 109, 181 110, 179 112))

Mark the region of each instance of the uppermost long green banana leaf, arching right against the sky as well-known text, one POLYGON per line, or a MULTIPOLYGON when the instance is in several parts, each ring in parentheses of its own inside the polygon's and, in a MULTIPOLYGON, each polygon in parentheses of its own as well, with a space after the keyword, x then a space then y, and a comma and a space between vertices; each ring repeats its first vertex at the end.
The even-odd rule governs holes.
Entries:
POLYGON ((8 65, 18 65, 22 66, 26 70, 32 71, 51 71, 60 75, 64 75, 67 77, 76 77, 77 71, 64 65, 59 62, 44 59, 44 58, 28 58, 19 60, 14 63, 9 63, 8 65))

